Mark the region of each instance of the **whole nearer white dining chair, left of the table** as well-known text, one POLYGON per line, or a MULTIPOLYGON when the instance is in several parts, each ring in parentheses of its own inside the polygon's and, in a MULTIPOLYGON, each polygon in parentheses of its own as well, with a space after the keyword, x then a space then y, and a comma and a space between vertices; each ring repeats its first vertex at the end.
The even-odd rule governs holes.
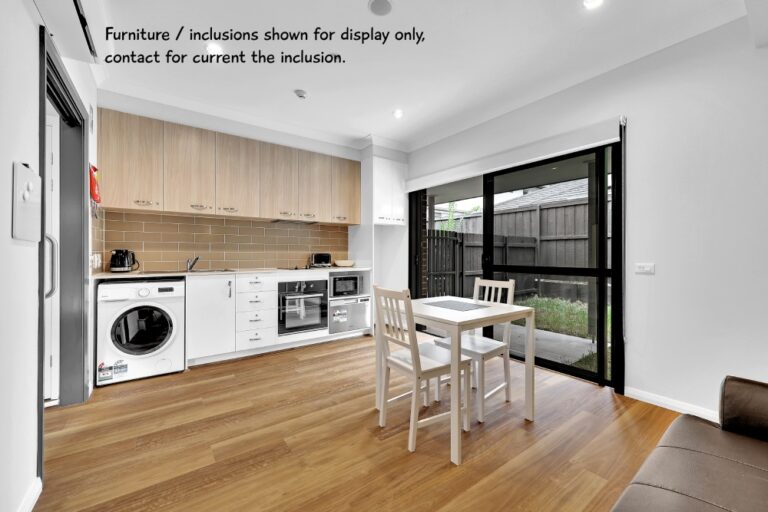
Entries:
MULTIPOLYGON (((376 345, 381 350, 382 368, 380 369, 382 389, 381 406, 379 408, 379 426, 387 423, 387 407, 390 403, 411 397, 411 420, 408 430, 408 451, 416 450, 416 430, 426 427, 444 418, 450 418, 450 413, 443 413, 419 420, 419 399, 422 385, 429 389, 430 379, 451 373, 451 351, 439 347, 432 342, 418 342, 416 325, 413 321, 411 293, 408 290, 396 291, 373 287, 376 302, 376 345), (397 345, 390 351, 389 345, 397 345), (396 370, 411 379, 411 391, 402 395, 388 398, 389 378, 391 370, 396 370)), ((469 431, 470 410, 470 363, 467 356, 460 356, 460 371, 464 380, 464 403, 462 405, 463 428, 469 431)), ((428 400, 427 400, 428 401, 428 400)))

